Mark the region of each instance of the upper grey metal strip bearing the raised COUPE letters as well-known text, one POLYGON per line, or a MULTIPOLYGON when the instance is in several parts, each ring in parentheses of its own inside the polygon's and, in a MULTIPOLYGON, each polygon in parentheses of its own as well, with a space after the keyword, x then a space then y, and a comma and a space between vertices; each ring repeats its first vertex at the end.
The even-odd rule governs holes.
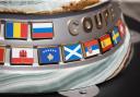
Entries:
MULTIPOLYGON (((78 41, 85 41, 93 38, 98 38, 103 34, 105 34, 107 31, 112 29, 117 20, 120 17, 120 10, 118 9, 117 4, 113 4, 112 7, 115 9, 116 17, 114 22, 109 22, 108 26, 105 26, 105 22, 103 21, 103 28, 97 29, 95 27, 95 21, 94 15, 96 15, 98 12, 102 12, 104 9, 109 8, 112 4, 106 3, 103 4, 102 8, 92 8, 88 11, 82 12, 73 12, 71 15, 63 14, 59 17, 59 15, 54 16, 38 16, 38 15, 15 15, 15 14, 0 14, 0 20, 4 21, 16 21, 16 22, 52 22, 54 23, 54 33, 55 37, 52 39, 39 39, 39 40, 32 40, 31 38, 31 29, 28 29, 28 38, 27 40, 18 40, 18 39, 1 39, 0 44, 2 45, 12 45, 12 46, 49 46, 49 45, 61 45, 61 44, 73 44, 78 41), (91 33, 85 33, 82 27, 82 19, 83 17, 91 17, 93 21, 93 29, 91 33), (71 20, 77 20, 80 22, 80 34, 78 36, 71 36, 68 28, 68 22, 71 20)), ((4 26, 2 25, 2 36, 4 26)))

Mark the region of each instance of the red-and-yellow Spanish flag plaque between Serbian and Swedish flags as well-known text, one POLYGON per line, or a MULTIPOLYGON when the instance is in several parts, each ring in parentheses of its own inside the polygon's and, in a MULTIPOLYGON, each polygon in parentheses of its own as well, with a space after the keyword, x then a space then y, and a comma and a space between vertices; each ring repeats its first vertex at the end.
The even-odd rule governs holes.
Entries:
POLYGON ((105 52, 113 47, 109 34, 106 34, 100 38, 102 51, 105 52))

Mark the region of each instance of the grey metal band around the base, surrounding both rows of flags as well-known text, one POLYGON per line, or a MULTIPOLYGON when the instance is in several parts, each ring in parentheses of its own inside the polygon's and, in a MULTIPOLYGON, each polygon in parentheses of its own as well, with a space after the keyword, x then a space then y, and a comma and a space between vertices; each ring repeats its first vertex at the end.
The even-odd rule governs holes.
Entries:
MULTIPOLYGON (((1 39, 0 44, 5 45, 5 46, 11 46, 11 47, 31 47, 33 46, 51 46, 51 45, 67 45, 67 44, 74 44, 79 41, 86 41, 91 40, 93 38, 98 38, 102 35, 108 33, 117 23, 118 19, 120 19, 120 9, 117 7, 117 3, 103 3, 103 7, 98 5, 98 8, 91 8, 85 11, 81 12, 73 12, 69 15, 69 13, 59 15, 56 14, 52 17, 50 15, 45 16, 45 15, 16 15, 16 14, 0 14, 0 19, 4 21, 20 21, 20 22, 52 22, 54 23, 54 29, 55 29, 55 37, 52 39, 40 39, 40 40, 32 40, 31 39, 31 32, 28 33, 28 38, 27 40, 16 40, 16 39, 1 39), (103 13, 104 10, 113 8, 115 11, 115 20, 109 21, 108 26, 106 26, 105 21, 103 21, 103 28, 97 29, 95 27, 95 20, 94 16, 101 12, 103 13), (91 33, 85 33, 82 26, 82 20, 84 17, 91 17, 93 22, 93 29, 91 33), (21 20, 23 19, 23 20, 21 20), (70 21, 79 21, 79 35, 72 36, 69 33, 69 22, 70 21)), ((102 14, 103 15, 103 14, 102 14)), ((31 28, 31 27, 30 27, 31 28)), ((31 29, 28 29, 31 31, 31 29)), ((2 36, 4 36, 4 25, 2 25, 2 36)), ((124 38, 125 39, 125 38, 124 38)), ((7 57, 5 57, 5 63, 4 65, 1 65, 2 69, 12 69, 12 70, 22 70, 22 66, 24 66, 24 70, 46 70, 47 69, 66 69, 66 68, 72 68, 72 66, 79 66, 79 65, 88 65, 89 63, 94 63, 96 61, 100 61, 107 56, 112 54, 115 52, 124 43, 124 39, 119 45, 114 47, 110 51, 107 51, 103 54, 98 54, 97 57, 93 57, 90 59, 82 59, 81 61, 75 61, 75 62, 60 62, 59 64, 50 64, 50 65, 42 65, 39 66, 38 64, 38 57, 37 57, 37 49, 34 48, 34 59, 35 62, 32 66, 27 65, 14 65, 11 66, 10 64, 10 48, 7 49, 7 57), (39 66, 39 68, 38 68, 39 66)))

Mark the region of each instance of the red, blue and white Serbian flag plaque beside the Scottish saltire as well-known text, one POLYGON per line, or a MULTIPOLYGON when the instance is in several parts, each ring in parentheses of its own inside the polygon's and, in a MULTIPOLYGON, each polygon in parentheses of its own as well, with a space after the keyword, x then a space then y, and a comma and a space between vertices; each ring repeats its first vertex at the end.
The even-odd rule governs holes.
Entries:
POLYGON ((84 48, 85 58, 96 56, 96 54, 101 53, 98 41, 95 40, 95 39, 90 40, 90 41, 85 41, 83 44, 83 48, 84 48))

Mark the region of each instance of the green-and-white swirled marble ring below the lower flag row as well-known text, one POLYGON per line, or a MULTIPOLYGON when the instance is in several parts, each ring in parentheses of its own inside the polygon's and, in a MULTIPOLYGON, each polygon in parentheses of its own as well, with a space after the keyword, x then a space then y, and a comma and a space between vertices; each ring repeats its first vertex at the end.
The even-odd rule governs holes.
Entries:
POLYGON ((130 34, 127 32, 124 45, 114 53, 86 65, 49 70, 44 68, 8 69, 1 66, 0 93, 42 93, 78 89, 103 83, 121 65, 128 53, 130 34))

